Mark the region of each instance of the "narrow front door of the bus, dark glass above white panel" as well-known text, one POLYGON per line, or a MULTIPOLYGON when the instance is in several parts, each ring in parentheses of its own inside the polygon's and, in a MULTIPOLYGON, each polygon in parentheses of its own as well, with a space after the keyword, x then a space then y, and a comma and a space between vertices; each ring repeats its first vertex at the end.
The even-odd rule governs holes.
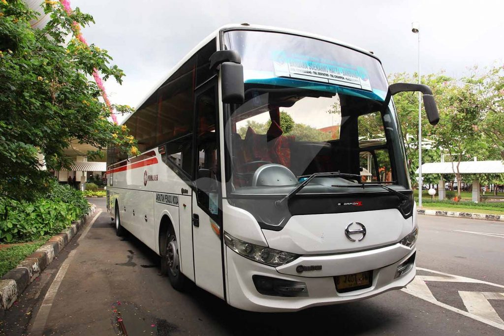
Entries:
POLYGON ((217 82, 195 92, 193 251, 196 284, 223 298, 217 82))

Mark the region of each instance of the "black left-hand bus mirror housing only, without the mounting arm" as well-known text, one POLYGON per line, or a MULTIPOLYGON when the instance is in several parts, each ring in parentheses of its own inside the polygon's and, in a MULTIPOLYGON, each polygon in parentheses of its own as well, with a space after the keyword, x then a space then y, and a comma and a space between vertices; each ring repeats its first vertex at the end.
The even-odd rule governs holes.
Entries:
POLYGON ((222 102, 229 104, 243 103, 245 92, 243 85, 243 65, 224 62, 221 68, 222 102))

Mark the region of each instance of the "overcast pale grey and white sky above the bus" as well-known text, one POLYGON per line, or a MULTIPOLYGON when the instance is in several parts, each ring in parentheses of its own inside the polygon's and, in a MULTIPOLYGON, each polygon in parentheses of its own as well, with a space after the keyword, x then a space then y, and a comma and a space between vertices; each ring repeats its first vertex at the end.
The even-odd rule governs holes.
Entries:
POLYGON ((387 74, 445 70, 460 78, 472 65, 504 62, 504 1, 466 0, 71 0, 96 24, 88 43, 107 49, 126 77, 106 83, 112 103, 137 107, 145 95, 203 38, 229 23, 306 31, 372 50, 387 74))

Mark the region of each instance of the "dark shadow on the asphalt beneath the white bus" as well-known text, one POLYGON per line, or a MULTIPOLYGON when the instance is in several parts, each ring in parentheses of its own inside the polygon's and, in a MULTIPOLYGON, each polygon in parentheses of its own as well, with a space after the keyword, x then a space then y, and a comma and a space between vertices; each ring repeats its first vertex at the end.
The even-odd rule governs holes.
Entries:
MULTIPOLYGON (((112 228, 112 225, 110 225, 112 228)), ((113 228, 112 228, 113 229, 113 228)), ((148 259, 145 267, 160 267, 160 257, 131 234, 128 240, 137 253, 148 259)), ((166 281, 166 286, 170 286, 166 281)), ((236 335, 297 335, 297 334, 359 334, 384 330, 400 316, 384 313, 374 301, 314 307, 294 313, 256 313, 233 308, 216 296, 194 286, 183 294, 198 306, 201 320, 211 320, 228 334, 236 335)), ((195 311, 195 313, 197 313, 195 311)), ((167 318, 169 316, 158 316, 167 318)))

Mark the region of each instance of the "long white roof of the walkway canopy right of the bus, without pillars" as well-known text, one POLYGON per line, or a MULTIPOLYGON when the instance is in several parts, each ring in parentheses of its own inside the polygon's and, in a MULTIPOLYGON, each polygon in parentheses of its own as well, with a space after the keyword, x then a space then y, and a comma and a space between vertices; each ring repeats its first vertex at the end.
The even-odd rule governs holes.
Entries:
MULTIPOLYGON (((457 162, 433 162, 422 165, 422 174, 453 174, 457 171, 457 162)), ((460 163, 461 174, 504 173, 502 161, 463 161, 460 163)), ((418 169, 416 170, 418 174, 418 169)))

